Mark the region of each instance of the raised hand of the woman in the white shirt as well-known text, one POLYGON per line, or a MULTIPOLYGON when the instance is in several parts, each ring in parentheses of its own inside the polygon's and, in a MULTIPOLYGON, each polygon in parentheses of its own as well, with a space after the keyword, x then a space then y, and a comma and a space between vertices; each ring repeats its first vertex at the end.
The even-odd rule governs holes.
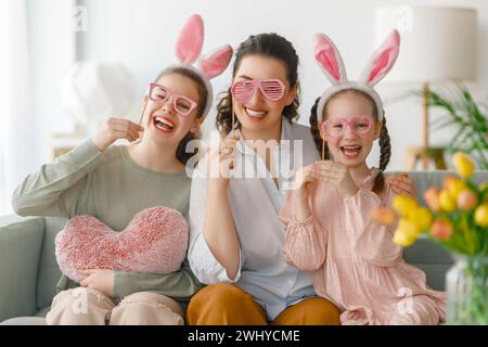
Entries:
POLYGON ((232 169, 235 167, 235 154, 240 137, 232 134, 222 139, 208 155, 209 185, 226 189, 229 187, 232 169))

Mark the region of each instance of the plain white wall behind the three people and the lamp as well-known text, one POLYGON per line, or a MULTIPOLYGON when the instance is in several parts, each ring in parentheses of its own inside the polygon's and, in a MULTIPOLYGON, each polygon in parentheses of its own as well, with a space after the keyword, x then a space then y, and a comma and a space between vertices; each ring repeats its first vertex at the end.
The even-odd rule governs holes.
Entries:
MULTIPOLYGON (((55 9, 61 0, 30 1, 36 9, 33 26, 37 27, 34 48, 41 52, 41 60, 34 63, 37 70, 36 92, 40 131, 60 131, 66 128, 56 107, 54 93, 57 77, 69 59, 62 50, 66 38, 60 33, 53 18, 60 18, 55 9), (46 9, 46 3, 51 5, 46 9), (40 15, 37 11, 40 11, 40 15), (54 17, 53 17, 54 16, 54 17), (62 39, 54 40, 53 37, 62 39), (49 68, 46 68, 49 66, 49 68), (48 78, 53 76, 54 78, 48 78)), ((140 92, 166 65, 174 63, 174 42, 178 30, 191 13, 200 13, 205 21, 206 41, 204 52, 223 43, 236 47, 251 34, 275 31, 292 41, 301 60, 300 80, 303 106, 300 123, 308 124, 309 110, 317 95, 329 85, 320 74, 312 55, 311 36, 317 31, 331 36, 343 53, 348 75, 358 76, 365 60, 373 51, 376 7, 395 4, 462 5, 478 10, 478 90, 485 95, 488 86, 488 1, 487 0, 84 0, 78 1, 88 10, 88 30, 78 35, 78 59, 123 62, 134 74, 140 92)), ((435 25, 435 23, 433 23, 435 25)), ((230 82, 230 69, 215 80, 220 91, 230 82)), ((415 86, 413 86, 415 87, 415 86)), ((421 143, 422 114, 415 101, 388 102, 408 89, 378 86, 386 101, 388 129, 394 154, 390 169, 401 169, 406 146, 421 143)), ((206 128, 214 127, 211 114, 206 128)), ((136 116, 137 117, 137 116, 136 116)), ((433 144, 441 144, 451 133, 434 133, 433 144)), ((377 163, 377 151, 370 164, 377 163)))

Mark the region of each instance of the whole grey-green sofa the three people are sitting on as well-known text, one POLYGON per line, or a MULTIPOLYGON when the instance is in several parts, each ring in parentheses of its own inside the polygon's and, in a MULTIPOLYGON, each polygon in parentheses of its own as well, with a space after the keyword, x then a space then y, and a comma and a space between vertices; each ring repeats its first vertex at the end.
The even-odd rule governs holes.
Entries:
MULTIPOLYGON (((411 172, 420 201, 431 185, 441 185, 446 171, 411 172)), ((488 171, 477 172, 476 181, 488 181, 488 171)), ((0 217, 0 322, 16 317, 44 317, 55 295, 61 271, 54 257, 54 236, 65 220, 18 216, 0 217)), ((428 284, 442 291, 450 254, 428 240, 404 249, 404 259, 427 274, 428 284)), ((16 319, 9 323, 42 323, 16 319)))

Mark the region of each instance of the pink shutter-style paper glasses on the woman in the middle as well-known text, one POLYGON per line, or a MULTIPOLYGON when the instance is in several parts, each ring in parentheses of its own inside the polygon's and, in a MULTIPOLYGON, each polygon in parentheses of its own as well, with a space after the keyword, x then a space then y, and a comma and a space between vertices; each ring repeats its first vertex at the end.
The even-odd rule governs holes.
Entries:
POLYGON ((231 92, 240 103, 246 103, 258 88, 269 101, 279 101, 284 95, 285 85, 279 79, 237 80, 233 83, 231 92))

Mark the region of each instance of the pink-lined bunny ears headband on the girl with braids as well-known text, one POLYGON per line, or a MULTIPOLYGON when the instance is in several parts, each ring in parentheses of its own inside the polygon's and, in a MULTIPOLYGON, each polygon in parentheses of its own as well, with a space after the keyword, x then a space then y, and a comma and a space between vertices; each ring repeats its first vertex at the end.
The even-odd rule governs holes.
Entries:
POLYGON ((382 99, 373 87, 382 80, 393 68, 400 49, 400 35, 393 30, 383 44, 374 52, 365 65, 358 81, 349 81, 343 59, 332 40, 323 35, 314 36, 314 55, 320 68, 331 81, 332 87, 325 90, 317 107, 318 121, 323 120, 323 108, 332 95, 346 89, 356 89, 370 95, 376 104, 378 120, 383 119, 382 99))

